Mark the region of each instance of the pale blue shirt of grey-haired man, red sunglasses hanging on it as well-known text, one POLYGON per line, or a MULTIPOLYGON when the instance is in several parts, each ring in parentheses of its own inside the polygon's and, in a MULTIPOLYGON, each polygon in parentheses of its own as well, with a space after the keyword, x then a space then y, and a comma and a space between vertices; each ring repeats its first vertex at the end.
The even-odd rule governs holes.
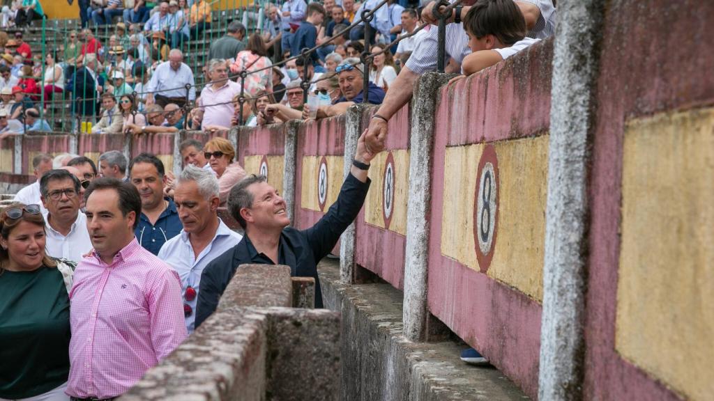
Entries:
MULTIPOLYGON (((243 239, 243 235, 236 233, 235 231, 228 228, 226 223, 218 218, 218 230, 216 234, 213 235, 211 243, 208 243, 206 248, 201 250, 201 253, 196 256, 193 253, 193 246, 191 245, 191 240, 188 238, 188 233, 181 230, 181 233, 176 235, 176 237, 171 238, 166 241, 164 246, 159 250, 159 259, 164 260, 168 263, 171 268, 176 270, 178 277, 181 278, 181 293, 186 293, 186 288, 189 286, 196 290, 196 295, 198 295, 198 285, 201 283, 201 273, 203 273, 203 268, 211 263, 211 261, 218 256, 222 255, 226 250, 233 248, 243 239)), ((186 330, 188 333, 193 333, 193 323, 196 320, 196 303, 198 303, 198 296, 191 301, 183 300, 184 303, 188 304, 193 308, 193 313, 186 317, 186 330)))

